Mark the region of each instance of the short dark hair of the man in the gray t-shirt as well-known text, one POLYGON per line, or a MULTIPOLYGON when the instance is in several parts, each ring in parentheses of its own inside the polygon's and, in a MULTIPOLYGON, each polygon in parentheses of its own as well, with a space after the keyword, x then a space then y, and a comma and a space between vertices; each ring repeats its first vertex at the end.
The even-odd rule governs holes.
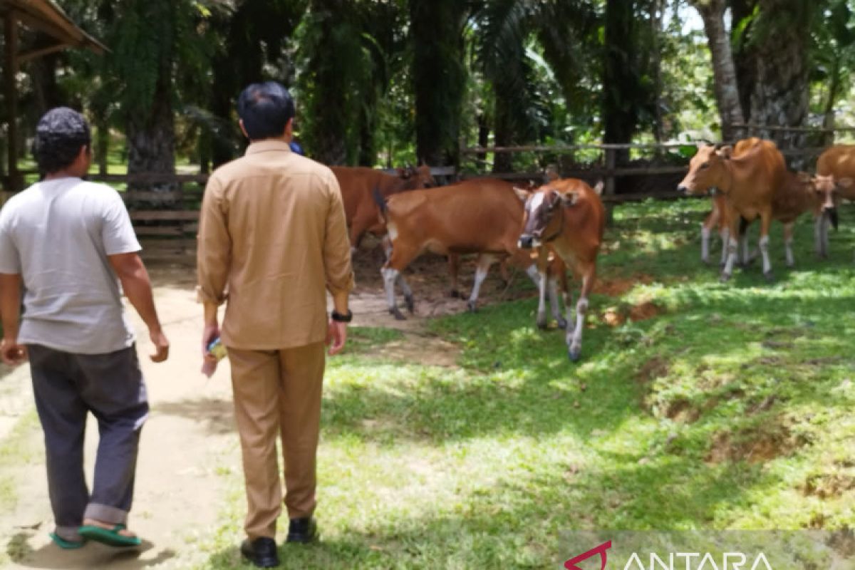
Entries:
POLYGON ((92 142, 89 125, 83 115, 68 107, 50 109, 38 120, 32 156, 43 174, 59 172, 71 165, 80 147, 92 142))

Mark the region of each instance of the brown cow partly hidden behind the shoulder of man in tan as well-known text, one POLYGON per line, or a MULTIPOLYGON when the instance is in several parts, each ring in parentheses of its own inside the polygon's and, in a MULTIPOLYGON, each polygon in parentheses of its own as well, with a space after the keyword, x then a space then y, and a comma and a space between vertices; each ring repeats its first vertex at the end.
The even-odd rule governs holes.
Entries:
POLYGON ((398 168, 398 175, 386 174, 367 167, 330 167, 339 180, 345 203, 345 218, 350 228, 351 253, 355 253, 365 232, 382 235, 386 228, 380 223, 380 212, 374 202, 374 189, 383 197, 397 192, 417 190, 436 185, 430 167, 398 168))

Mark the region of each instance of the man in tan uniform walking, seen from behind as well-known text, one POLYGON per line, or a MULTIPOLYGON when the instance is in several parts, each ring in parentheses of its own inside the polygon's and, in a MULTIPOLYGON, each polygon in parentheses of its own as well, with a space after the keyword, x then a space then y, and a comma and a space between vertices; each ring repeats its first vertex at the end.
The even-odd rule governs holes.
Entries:
POLYGON ((220 335, 232 366, 234 411, 243 451, 248 539, 241 552, 258 567, 279 565, 274 538, 285 455, 288 542, 315 538, 315 455, 324 345, 344 347, 351 319, 351 246, 341 192, 329 168, 298 156, 294 104, 282 85, 250 85, 239 97, 246 155, 218 168, 202 203, 198 292, 203 354, 220 335), (326 291, 333 296, 327 322, 326 291))

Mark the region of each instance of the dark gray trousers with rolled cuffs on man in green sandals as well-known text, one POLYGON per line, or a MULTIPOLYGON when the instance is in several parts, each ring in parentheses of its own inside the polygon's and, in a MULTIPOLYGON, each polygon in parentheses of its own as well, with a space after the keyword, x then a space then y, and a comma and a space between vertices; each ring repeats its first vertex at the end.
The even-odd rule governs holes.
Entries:
POLYGON ((133 500, 139 433, 149 414, 136 347, 77 355, 30 344, 27 352, 56 533, 79 540, 84 519, 124 524, 133 500), (100 436, 91 493, 83 470, 89 412, 100 436))

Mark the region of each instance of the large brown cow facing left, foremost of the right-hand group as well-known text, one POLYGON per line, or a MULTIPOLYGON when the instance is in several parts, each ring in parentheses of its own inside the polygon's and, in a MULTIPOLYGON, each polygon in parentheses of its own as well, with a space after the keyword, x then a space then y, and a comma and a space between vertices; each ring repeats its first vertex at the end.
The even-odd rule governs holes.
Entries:
POLYGON ((774 279, 769 261, 772 197, 775 190, 783 185, 786 173, 784 157, 775 143, 767 140, 754 144, 738 156, 734 156, 731 147, 717 150, 711 144, 701 146, 693 156, 686 178, 677 186, 677 190, 700 194, 716 186, 727 197, 725 213, 730 235, 728 260, 722 269, 722 281, 730 279, 734 271, 740 217, 749 222, 760 218, 763 273, 766 279, 774 279))

